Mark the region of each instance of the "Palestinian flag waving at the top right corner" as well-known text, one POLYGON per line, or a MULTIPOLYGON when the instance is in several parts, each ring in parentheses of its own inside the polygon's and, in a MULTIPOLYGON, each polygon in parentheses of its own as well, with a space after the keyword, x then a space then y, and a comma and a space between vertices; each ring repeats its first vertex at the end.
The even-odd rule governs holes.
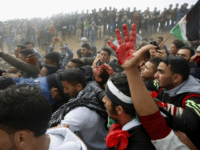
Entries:
POLYGON ((200 39, 200 1, 178 22, 170 33, 181 41, 200 39))

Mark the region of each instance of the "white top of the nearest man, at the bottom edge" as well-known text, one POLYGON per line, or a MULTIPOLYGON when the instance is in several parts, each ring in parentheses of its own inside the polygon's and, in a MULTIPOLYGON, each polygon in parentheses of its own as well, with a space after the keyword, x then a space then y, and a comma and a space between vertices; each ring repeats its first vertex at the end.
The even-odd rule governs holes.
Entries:
POLYGON ((68 128, 49 129, 49 150, 87 150, 81 139, 68 128))

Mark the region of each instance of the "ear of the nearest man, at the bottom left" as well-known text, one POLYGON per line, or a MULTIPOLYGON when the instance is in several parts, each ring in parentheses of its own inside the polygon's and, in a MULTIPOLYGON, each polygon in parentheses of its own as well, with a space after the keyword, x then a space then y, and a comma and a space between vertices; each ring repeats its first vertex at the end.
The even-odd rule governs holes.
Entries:
POLYGON ((26 131, 18 131, 14 135, 14 143, 18 149, 24 148, 30 141, 31 134, 26 131))

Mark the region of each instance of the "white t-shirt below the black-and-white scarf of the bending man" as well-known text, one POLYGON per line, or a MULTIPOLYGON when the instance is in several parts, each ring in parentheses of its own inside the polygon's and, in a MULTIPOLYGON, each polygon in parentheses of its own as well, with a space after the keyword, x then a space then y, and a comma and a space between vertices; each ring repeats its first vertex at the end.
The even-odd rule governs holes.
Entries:
POLYGON ((79 136, 88 150, 105 150, 105 120, 95 111, 87 107, 77 107, 65 115, 61 125, 69 125, 69 129, 79 136))

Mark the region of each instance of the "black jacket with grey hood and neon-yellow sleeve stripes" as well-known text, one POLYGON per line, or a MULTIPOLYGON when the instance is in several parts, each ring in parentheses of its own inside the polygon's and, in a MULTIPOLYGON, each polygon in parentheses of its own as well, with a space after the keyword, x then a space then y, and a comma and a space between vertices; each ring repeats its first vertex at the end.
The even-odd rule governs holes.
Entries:
MULTIPOLYGON (((145 82, 148 90, 159 92, 159 86, 153 81, 145 82)), ((184 83, 183 83, 184 84, 184 83)), ((169 103, 175 107, 182 107, 183 99, 189 94, 199 94, 200 83, 193 78, 189 77, 185 81, 185 84, 180 87, 178 91, 174 93, 174 96, 169 96, 167 91, 160 90, 157 99, 163 103, 169 103)), ((163 109, 161 109, 163 111, 163 109)), ((163 111, 167 117, 167 125, 173 130, 179 130, 184 132, 193 144, 200 149, 199 138, 200 135, 200 98, 190 97, 185 101, 184 111, 180 117, 171 115, 168 111, 163 111)))

